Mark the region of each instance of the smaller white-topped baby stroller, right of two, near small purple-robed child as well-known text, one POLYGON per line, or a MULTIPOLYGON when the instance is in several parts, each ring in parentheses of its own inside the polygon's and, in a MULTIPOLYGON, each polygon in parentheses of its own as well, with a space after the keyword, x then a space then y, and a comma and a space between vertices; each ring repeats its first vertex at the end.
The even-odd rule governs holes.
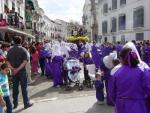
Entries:
POLYGON ((96 66, 95 64, 85 65, 85 80, 83 84, 89 88, 92 88, 95 83, 96 66))

